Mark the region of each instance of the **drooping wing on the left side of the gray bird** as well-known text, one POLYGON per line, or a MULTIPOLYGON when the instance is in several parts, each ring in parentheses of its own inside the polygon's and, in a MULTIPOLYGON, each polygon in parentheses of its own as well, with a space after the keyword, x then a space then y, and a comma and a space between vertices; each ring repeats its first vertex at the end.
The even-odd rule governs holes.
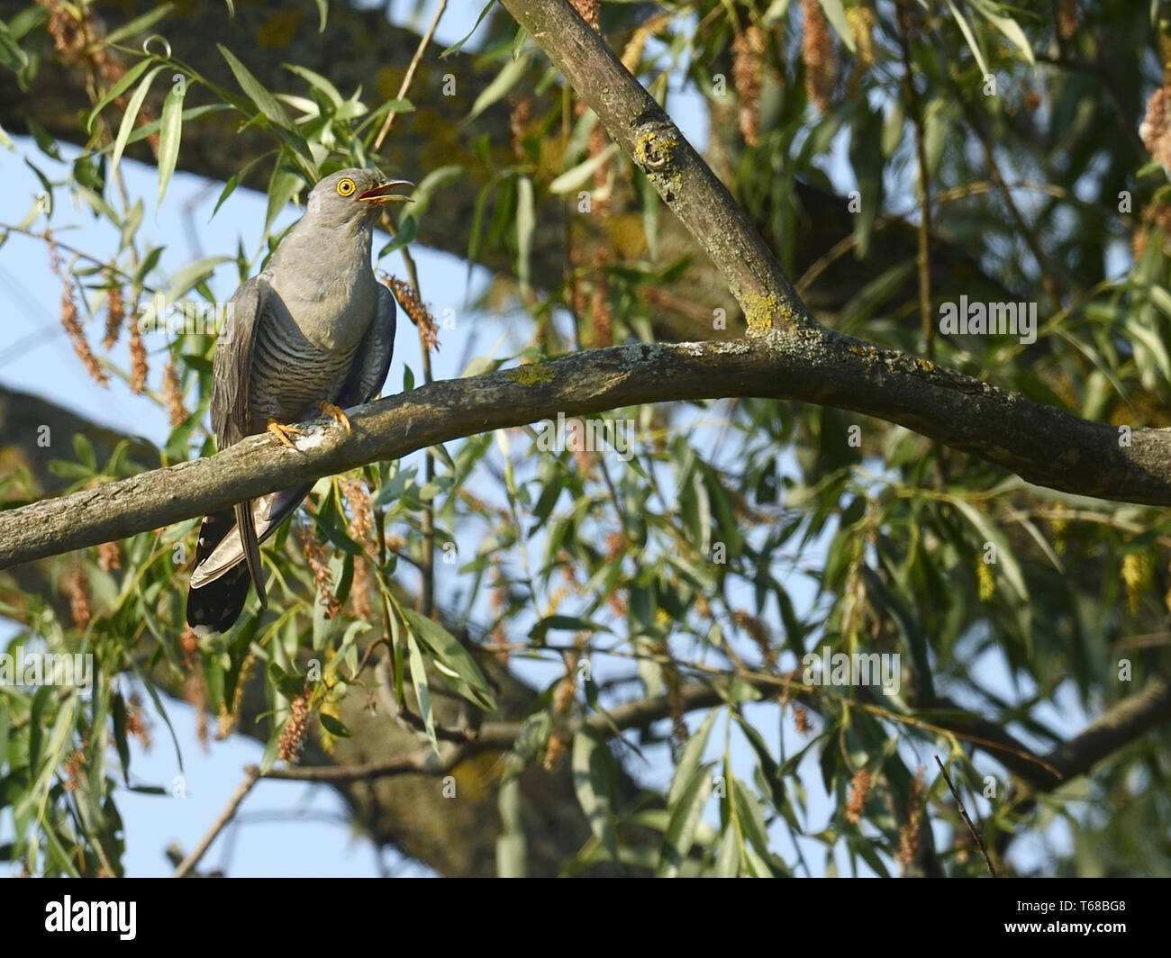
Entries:
MULTIPOLYGON (((252 379, 252 356, 256 333, 268 308, 271 287, 261 273, 245 282, 228 301, 224 329, 215 343, 212 364, 212 427, 219 449, 239 443, 251 432, 252 402, 248 384, 252 379)), ((240 549, 248 566, 248 575, 256 587, 261 608, 267 608, 265 580, 260 570, 260 540, 256 538, 253 504, 240 502, 233 509, 240 531, 240 549)), ((222 542, 220 543, 222 545, 222 542)), ((234 543, 233 543, 234 545, 234 543)), ((203 556, 199 566, 206 559, 203 556)))

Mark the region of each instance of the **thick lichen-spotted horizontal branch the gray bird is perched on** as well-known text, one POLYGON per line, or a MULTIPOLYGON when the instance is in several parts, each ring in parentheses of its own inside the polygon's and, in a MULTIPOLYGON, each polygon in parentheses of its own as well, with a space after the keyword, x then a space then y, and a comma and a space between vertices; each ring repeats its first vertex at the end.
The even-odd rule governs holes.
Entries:
POLYGON ((268 434, 249 437, 208 459, 0 513, 0 568, 559 412, 748 396, 876 416, 1064 492, 1171 505, 1171 434, 1164 430, 1135 430, 1130 445, 1119 445, 1111 426, 912 356, 804 328, 723 343, 631 343, 432 383, 355 411, 349 437, 338 426, 309 426, 296 451, 268 434))

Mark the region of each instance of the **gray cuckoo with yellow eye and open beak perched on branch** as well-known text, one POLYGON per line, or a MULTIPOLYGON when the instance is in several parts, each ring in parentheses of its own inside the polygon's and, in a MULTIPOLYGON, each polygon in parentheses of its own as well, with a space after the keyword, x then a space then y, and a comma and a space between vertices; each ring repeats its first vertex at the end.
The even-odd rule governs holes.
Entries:
MULTIPOLYGON (((342 170, 309 193, 304 215, 268 268, 227 304, 215 343, 212 427, 220 450, 324 412, 349 431, 344 408, 378 396, 395 345, 395 297, 375 279, 370 246, 379 206, 410 186, 376 170, 342 170)), ((222 632, 240 617, 249 582, 268 608, 260 543, 280 527, 311 484, 208 515, 199 529, 187 591, 187 622, 222 632)))

